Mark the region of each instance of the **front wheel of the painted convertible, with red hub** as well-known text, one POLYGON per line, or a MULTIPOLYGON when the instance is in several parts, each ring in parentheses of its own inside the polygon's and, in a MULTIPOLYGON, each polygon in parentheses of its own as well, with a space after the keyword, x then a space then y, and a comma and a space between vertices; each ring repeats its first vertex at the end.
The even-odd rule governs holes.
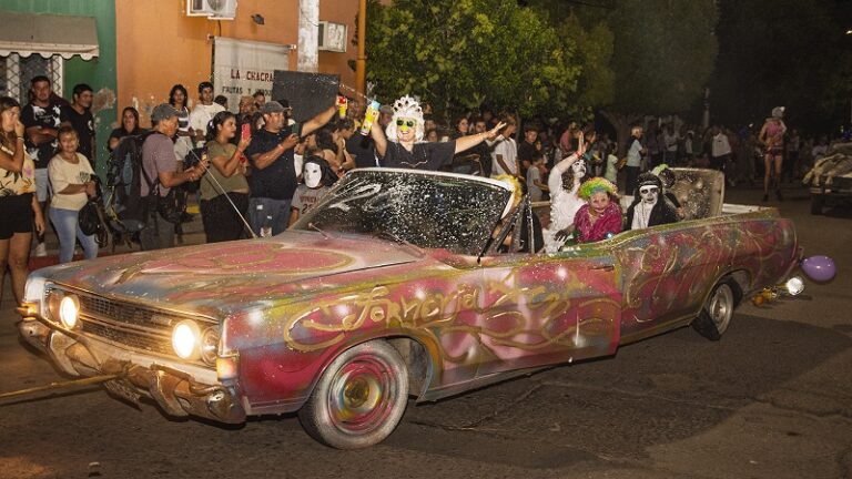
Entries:
POLYGON ((298 419, 314 439, 337 449, 383 441, 408 401, 408 374, 399 353, 384 340, 354 346, 332 361, 298 419))

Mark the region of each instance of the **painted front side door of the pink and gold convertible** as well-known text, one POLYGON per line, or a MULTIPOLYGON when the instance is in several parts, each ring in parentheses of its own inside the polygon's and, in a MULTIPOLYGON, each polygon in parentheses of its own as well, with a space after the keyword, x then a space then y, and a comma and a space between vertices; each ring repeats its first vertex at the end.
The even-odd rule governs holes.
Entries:
MULTIPOLYGON (((529 214, 528 205, 519 210, 529 214)), ((491 354, 478 376, 615 351, 621 285, 613 256, 507 253, 481 265, 480 340, 491 354)))

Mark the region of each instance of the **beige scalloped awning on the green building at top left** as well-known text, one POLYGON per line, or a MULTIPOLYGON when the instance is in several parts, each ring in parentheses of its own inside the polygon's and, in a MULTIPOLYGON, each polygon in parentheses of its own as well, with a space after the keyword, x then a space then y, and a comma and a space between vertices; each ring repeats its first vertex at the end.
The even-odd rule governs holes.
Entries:
POLYGON ((94 17, 18 13, 0 10, 0 55, 18 53, 64 59, 98 57, 94 17))

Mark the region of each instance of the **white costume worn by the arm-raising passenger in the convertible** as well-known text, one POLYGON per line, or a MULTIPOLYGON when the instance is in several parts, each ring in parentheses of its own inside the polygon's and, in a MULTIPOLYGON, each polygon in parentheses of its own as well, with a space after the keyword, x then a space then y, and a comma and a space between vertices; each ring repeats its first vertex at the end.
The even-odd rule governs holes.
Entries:
POLYGON ((547 253, 556 253, 565 243, 555 238, 556 233, 574 224, 574 216, 586 202, 577 196, 580 181, 586 175, 586 162, 577 161, 576 154, 565 157, 557 163, 547 177, 547 187, 550 190, 550 225, 544 231, 545 249, 547 253), (562 174, 568 169, 574 170, 574 185, 566 191, 562 185, 562 174))

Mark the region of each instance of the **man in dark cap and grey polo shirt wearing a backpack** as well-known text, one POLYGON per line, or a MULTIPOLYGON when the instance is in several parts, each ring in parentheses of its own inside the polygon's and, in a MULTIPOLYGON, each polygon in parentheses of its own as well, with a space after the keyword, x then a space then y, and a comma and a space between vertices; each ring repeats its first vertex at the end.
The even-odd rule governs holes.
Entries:
POLYGON ((202 157, 199 164, 178 171, 172 137, 178 131, 179 114, 169 103, 154 106, 152 133, 142 143, 140 196, 148 201, 145 226, 139 235, 143 251, 174 246, 174 225, 158 214, 158 201, 166 196, 170 188, 199 180, 207 169, 206 159, 202 157))

